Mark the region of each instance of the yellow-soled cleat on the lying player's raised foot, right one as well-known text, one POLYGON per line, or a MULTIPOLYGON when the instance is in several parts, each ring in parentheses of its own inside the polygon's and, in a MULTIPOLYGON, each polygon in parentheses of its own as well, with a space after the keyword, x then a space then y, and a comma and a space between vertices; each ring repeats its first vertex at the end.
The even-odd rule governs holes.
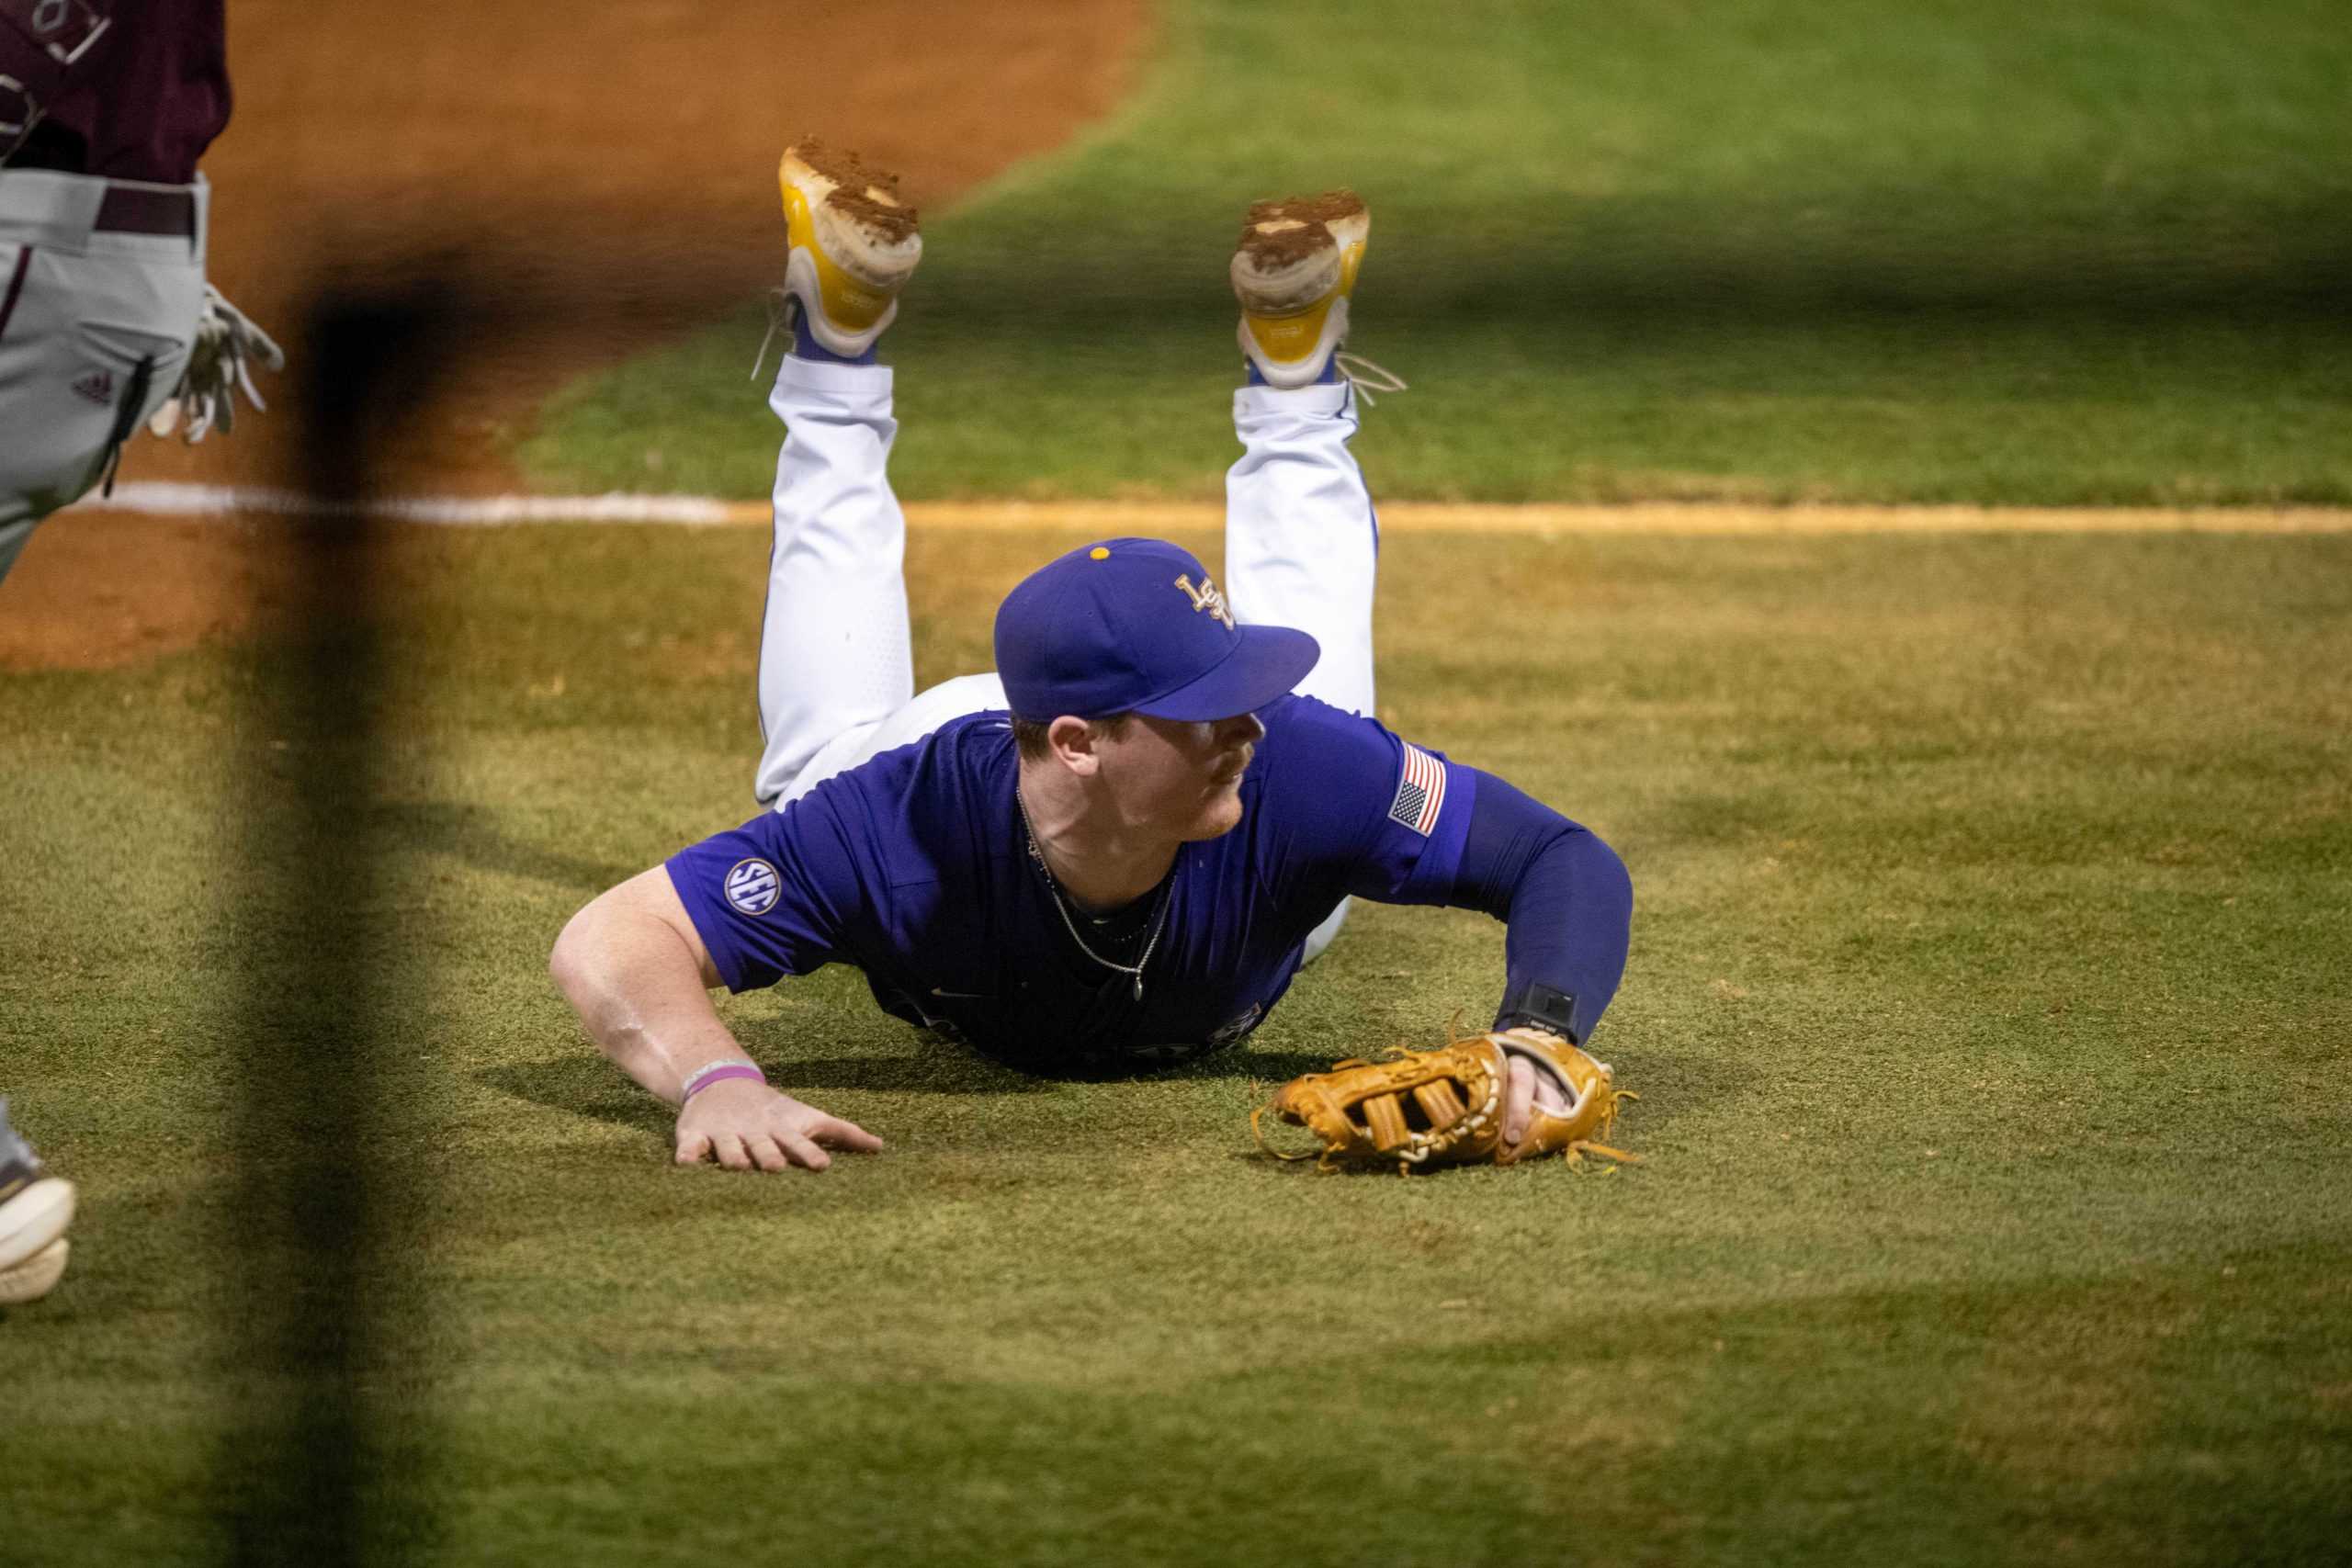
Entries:
POLYGON ((1371 237, 1355 190, 1256 202, 1232 249, 1242 353, 1275 388, 1324 381, 1348 341, 1348 299, 1371 237))

